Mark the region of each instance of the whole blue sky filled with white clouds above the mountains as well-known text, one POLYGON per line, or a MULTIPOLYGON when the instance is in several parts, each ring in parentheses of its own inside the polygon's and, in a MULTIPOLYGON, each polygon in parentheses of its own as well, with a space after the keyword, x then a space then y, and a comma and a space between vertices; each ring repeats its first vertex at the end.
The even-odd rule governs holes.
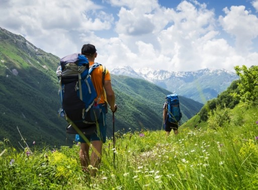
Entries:
POLYGON ((258 0, 0 0, 0 27, 58 57, 94 44, 109 70, 257 65, 258 0))

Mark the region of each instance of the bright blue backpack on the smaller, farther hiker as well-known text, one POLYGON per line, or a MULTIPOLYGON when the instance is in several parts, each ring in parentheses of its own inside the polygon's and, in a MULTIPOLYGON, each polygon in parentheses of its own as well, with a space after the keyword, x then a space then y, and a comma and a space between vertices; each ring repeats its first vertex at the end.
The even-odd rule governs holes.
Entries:
POLYGON ((178 123, 182 117, 178 95, 177 94, 167 95, 166 104, 167 104, 166 118, 168 119, 168 122, 178 123))

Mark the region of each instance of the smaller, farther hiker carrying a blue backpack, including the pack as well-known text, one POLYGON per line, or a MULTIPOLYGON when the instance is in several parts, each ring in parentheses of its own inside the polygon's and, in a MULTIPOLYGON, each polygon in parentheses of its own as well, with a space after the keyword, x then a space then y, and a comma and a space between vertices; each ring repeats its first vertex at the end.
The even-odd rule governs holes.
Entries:
POLYGON ((166 101, 163 105, 163 125, 168 136, 173 129, 174 134, 178 134, 179 121, 182 113, 180 110, 179 98, 177 94, 170 94, 166 96, 166 101))

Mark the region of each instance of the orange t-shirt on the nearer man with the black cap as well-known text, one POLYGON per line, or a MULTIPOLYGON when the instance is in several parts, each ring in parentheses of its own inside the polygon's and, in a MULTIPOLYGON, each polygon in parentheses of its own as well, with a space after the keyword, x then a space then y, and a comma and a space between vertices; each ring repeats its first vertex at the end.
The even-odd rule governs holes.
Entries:
MULTIPOLYGON (((90 61, 90 66, 92 66, 93 64, 94 62, 90 61)), ((91 74, 91 79, 98 95, 95 101, 97 101, 99 97, 101 98, 99 101, 99 104, 107 102, 106 92, 104 90, 103 83, 102 83, 102 72, 103 72, 103 66, 101 65, 100 67, 94 69, 91 74)), ((106 69, 106 75, 104 80, 105 81, 111 80, 110 73, 107 69, 106 69)))

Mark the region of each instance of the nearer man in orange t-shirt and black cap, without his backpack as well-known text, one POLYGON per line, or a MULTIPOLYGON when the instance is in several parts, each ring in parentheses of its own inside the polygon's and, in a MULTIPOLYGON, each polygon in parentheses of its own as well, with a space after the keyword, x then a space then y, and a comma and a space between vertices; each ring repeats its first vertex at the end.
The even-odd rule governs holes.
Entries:
MULTIPOLYGON (((92 44, 85 44, 81 48, 81 54, 85 55, 90 62, 90 66, 95 63, 95 58, 97 57, 97 50, 94 45, 92 44)), ((87 171, 87 167, 92 165, 93 167, 99 168, 101 163, 102 157, 102 146, 103 143, 106 142, 106 132, 107 132, 107 125, 106 125, 106 113, 108 111, 108 104, 110 105, 110 109, 112 112, 117 110, 117 106, 115 104, 115 93, 112 89, 111 85, 111 77, 109 71, 106 69, 106 74, 104 77, 103 83, 103 71, 104 66, 100 66, 91 74, 91 79, 94 85, 94 88, 97 92, 97 99, 99 100, 99 105, 102 109, 100 118, 98 120, 97 131, 94 132, 92 135, 86 135, 85 137, 89 140, 85 142, 83 137, 76 134, 75 141, 80 142, 80 151, 79 151, 79 159, 82 169, 87 171), (107 104, 108 103, 108 104, 107 104), (89 150, 92 144, 92 154, 89 155, 89 150)), ((89 170, 92 176, 96 175, 96 170, 91 169, 89 170)))

